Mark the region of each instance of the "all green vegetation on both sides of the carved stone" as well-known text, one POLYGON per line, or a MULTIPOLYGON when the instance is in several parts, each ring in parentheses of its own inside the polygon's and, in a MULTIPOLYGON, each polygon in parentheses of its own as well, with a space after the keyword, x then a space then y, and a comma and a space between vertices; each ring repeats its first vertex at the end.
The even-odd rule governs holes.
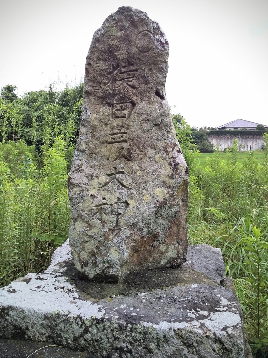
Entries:
MULTIPOLYGON (((0 286, 47 267, 68 237, 67 179, 79 132, 82 86, 0 98, 0 286)), ((264 149, 200 154, 207 135, 173 116, 190 172, 190 243, 220 247, 255 357, 268 352, 268 134, 264 149), (196 131, 199 132, 199 131, 196 131), (195 136, 195 137, 194 137, 195 136), (203 136, 203 137, 202 137, 203 136), (195 139, 194 139, 195 138, 195 139), (203 138, 203 139, 202 139, 203 138)))

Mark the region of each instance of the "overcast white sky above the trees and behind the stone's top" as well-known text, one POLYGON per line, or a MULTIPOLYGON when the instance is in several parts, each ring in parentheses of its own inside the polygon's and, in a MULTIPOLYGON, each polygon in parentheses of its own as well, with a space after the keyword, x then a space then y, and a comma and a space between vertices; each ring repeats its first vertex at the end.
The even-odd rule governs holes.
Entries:
POLYGON ((268 0, 0 0, 0 88, 83 81, 93 33, 119 6, 146 11, 167 35, 173 113, 196 127, 268 125, 268 0))

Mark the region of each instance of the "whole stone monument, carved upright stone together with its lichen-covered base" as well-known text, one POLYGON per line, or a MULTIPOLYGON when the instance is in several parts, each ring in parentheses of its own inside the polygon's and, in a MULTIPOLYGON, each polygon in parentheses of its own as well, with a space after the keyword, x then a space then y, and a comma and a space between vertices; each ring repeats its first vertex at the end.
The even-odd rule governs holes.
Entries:
POLYGON ((165 98, 167 59, 165 35, 140 10, 119 8, 94 34, 70 244, 45 272, 0 290, 0 337, 90 357, 252 358, 220 249, 187 251, 188 171, 165 98))

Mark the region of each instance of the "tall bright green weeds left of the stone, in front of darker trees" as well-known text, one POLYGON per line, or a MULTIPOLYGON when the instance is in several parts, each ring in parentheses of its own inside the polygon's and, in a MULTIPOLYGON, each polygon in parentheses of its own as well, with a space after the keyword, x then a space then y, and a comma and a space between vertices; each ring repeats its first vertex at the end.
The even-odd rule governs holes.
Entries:
POLYGON ((30 271, 43 270, 54 249, 68 238, 68 172, 63 147, 64 142, 57 138, 43 153, 40 169, 27 153, 16 153, 16 161, 9 156, 6 164, 0 162, 0 286, 30 271))

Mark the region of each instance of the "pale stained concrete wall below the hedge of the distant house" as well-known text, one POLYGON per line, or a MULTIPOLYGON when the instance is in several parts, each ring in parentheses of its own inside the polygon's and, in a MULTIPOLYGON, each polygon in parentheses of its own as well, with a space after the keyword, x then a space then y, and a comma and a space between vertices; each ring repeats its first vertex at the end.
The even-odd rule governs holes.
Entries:
POLYGON ((241 144, 240 150, 257 150, 262 148, 263 137, 262 136, 233 136, 233 135, 222 135, 222 136, 209 136, 208 139, 210 143, 220 147, 220 150, 224 150, 225 148, 229 148, 234 139, 237 139, 241 144))

